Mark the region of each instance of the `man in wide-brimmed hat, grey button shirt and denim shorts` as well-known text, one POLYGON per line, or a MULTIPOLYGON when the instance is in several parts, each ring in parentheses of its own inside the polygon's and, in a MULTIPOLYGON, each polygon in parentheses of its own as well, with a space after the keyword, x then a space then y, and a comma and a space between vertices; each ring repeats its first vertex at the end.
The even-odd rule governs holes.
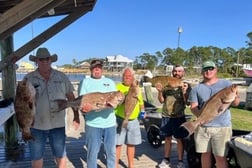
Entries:
MULTIPOLYGON (((47 48, 39 48, 36 55, 30 55, 29 59, 38 65, 35 71, 24 77, 36 89, 35 122, 31 128, 34 140, 28 142, 32 167, 43 167, 43 154, 48 138, 57 167, 66 168, 65 111, 53 111, 58 108, 55 99, 75 98, 73 85, 64 73, 51 67, 51 64, 57 61, 57 55, 51 55, 47 48)), ((73 109, 73 112, 73 124, 77 129, 80 123, 79 113, 76 109, 73 109)))

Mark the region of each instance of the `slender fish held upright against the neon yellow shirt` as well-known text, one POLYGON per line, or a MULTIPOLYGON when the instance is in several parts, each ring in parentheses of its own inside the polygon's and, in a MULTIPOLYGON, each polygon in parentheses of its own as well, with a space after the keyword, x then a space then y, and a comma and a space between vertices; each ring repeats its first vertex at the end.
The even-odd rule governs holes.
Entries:
POLYGON ((129 117, 133 112, 134 108, 136 107, 139 94, 139 82, 134 80, 129 88, 128 94, 125 97, 124 101, 124 114, 125 118, 122 123, 122 127, 126 128, 129 122, 129 117))

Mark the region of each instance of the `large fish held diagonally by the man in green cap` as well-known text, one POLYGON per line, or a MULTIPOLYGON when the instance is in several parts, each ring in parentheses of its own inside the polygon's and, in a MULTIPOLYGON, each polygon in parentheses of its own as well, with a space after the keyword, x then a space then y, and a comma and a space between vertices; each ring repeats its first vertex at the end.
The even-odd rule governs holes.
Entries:
POLYGON ((206 124, 224 113, 235 100, 237 92, 238 86, 235 84, 220 90, 204 104, 197 120, 187 121, 181 126, 191 135, 199 125, 206 124))

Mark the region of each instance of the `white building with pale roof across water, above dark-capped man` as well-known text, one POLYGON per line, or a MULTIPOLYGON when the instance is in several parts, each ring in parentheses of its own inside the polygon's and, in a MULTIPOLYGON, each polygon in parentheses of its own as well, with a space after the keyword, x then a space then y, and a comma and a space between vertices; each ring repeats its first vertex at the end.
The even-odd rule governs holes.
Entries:
POLYGON ((107 56, 104 68, 108 71, 120 72, 126 66, 133 67, 133 60, 119 54, 115 56, 107 56))

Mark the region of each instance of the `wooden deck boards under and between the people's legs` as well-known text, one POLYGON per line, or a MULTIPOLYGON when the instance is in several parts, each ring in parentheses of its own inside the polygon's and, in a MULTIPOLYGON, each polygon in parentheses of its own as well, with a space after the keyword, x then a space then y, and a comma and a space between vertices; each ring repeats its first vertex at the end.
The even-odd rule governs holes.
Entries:
MULTIPOLYGON (((163 159, 163 145, 159 148, 153 148, 150 146, 147 141, 146 131, 141 128, 143 143, 136 147, 136 155, 135 155, 135 167, 136 168, 155 168, 156 165, 163 159)), ((66 141, 67 146, 67 167, 68 168, 81 168, 86 167, 86 148, 84 145, 84 134, 81 134, 81 137, 73 138, 68 137, 66 141)), ((30 153, 28 149, 28 145, 24 144, 19 146, 18 149, 10 150, 11 152, 8 155, 5 148, 0 146, 0 167, 6 168, 30 168, 30 153), (8 157, 7 157, 8 155, 8 157)), ((103 151, 103 148, 101 148, 103 151)), ((173 144, 172 147, 172 155, 171 162, 174 164, 177 163, 177 149, 176 144, 173 144)), ((184 162, 186 163, 186 153, 184 157, 184 162)), ((105 158, 103 152, 99 154, 99 160, 97 161, 99 168, 105 168, 105 158)), ((126 148, 123 147, 121 154, 121 167, 126 168, 127 166, 127 156, 126 156, 126 148)), ((45 168, 56 168, 54 159, 52 157, 51 149, 49 144, 46 145, 46 152, 44 157, 44 167, 45 168)))

